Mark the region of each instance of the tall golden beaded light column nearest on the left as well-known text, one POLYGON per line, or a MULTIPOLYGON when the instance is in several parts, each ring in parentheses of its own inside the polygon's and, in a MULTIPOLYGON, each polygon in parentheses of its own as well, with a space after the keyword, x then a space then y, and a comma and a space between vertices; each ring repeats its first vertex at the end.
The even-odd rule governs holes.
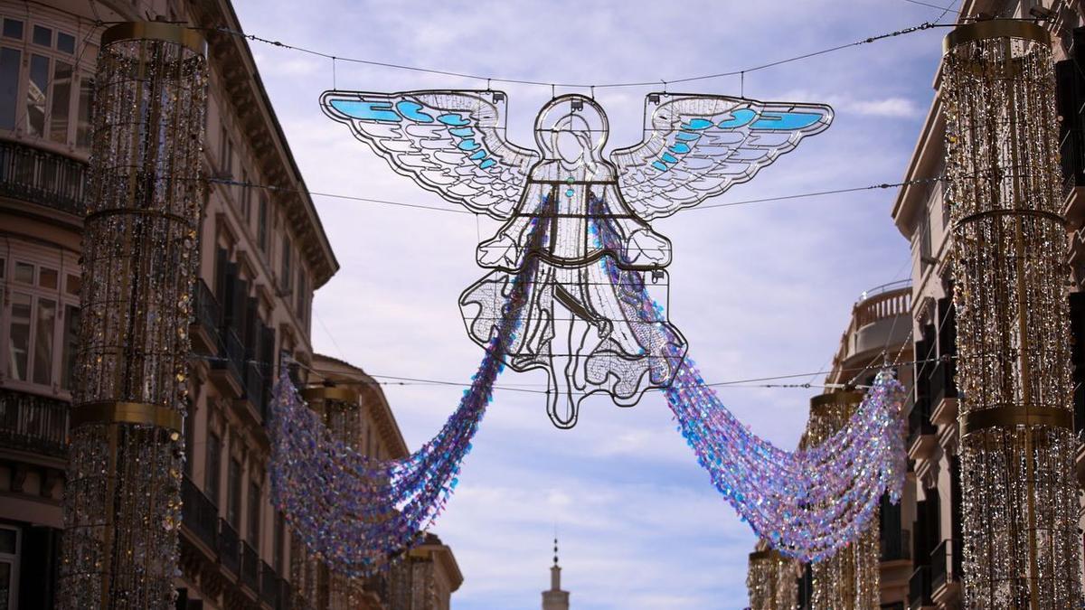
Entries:
POLYGON ((60 608, 174 607, 192 284, 203 204, 203 37, 102 35, 60 608))

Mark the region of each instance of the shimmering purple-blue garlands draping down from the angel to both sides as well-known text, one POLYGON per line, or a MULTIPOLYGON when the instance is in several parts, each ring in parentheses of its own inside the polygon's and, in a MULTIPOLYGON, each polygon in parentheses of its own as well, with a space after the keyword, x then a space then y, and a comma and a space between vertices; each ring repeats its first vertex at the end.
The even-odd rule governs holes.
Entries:
MULTIPOLYGON (((602 247, 617 240, 609 223, 603 214, 592 217, 589 234, 602 247)), ((536 225, 533 220, 529 239, 537 245, 545 233, 536 225)), ((533 251, 525 249, 498 332, 459 407, 408 458, 375 460, 336 439, 283 371, 271 409, 272 497, 305 544, 336 571, 363 575, 386 568, 444 510, 503 368, 505 350, 515 341, 519 309, 535 288, 533 251)), ((609 256, 596 264, 620 287, 626 319, 673 346, 651 365, 682 363, 665 391, 679 432, 719 493, 782 555, 803 561, 829 557, 866 531, 883 493, 899 498, 903 389, 889 371, 876 377, 840 431, 796 452, 779 449, 738 421, 692 360, 682 360, 682 343, 667 336, 663 308, 648 295, 642 275, 621 269, 609 256)))

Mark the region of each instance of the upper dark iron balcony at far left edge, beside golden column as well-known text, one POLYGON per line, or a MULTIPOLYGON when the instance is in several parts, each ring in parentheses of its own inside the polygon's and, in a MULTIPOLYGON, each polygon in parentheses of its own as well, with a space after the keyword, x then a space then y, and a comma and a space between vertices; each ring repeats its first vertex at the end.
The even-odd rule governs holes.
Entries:
POLYGON ((0 141, 0 195, 78 217, 87 214, 87 164, 23 143, 0 141))

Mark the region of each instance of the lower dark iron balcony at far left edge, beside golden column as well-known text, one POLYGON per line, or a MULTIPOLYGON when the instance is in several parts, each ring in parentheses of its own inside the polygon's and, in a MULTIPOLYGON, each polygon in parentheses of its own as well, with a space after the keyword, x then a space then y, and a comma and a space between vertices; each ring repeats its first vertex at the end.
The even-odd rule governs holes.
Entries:
POLYGON ((66 401, 0 389, 0 446, 67 456, 66 401))

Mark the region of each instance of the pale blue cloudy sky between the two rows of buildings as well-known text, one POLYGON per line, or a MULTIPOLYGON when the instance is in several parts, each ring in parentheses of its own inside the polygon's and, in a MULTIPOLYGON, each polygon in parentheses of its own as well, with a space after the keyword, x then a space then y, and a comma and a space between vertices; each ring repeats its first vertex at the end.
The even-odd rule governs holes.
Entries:
MULTIPOLYGON (((947 0, 930 0, 940 3, 947 0)), ((941 10, 906 0, 803 2, 416 2, 235 0, 244 29, 339 56, 541 81, 666 80, 741 69, 865 39, 941 10)), ((946 20, 953 18, 950 12, 946 20)), ((944 29, 864 45, 746 75, 763 100, 827 102, 833 126, 713 203, 898 181, 926 111, 944 29)), ((393 173, 327 119, 324 89, 485 88, 485 81, 336 62, 258 42, 253 51, 314 191, 447 206, 393 173)), ((549 87, 509 94, 514 141, 531 144, 549 87)), ((686 86, 738 94, 739 78, 686 86)), ((600 89, 610 143, 639 140, 648 88, 600 89)), ((562 90, 559 89, 559 92, 562 90)), ((822 370, 851 305, 907 276, 894 192, 690 209, 655 223, 674 242, 671 319, 710 381, 822 370)), ((315 196, 342 270, 317 293, 312 341, 373 374, 467 381, 481 350, 460 292, 480 278, 475 244, 495 225, 472 215, 315 196)), ((810 377, 817 381, 820 376, 810 377)), ((507 372, 541 384, 541 372, 507 372)), ((412 447, 455 408, 449 385, 385 387, 412 447)), ((793 446, 816 391, 730 387, 755 432, 793 446)), ((454 607, 539 608, 550 546, 582 609, 728 609, 746 605, 749 529, 713 491, 662 397, 631 409, 587 405, 556 430, 539 395, 498 391, 435 532, 465 581, 454 607)))

